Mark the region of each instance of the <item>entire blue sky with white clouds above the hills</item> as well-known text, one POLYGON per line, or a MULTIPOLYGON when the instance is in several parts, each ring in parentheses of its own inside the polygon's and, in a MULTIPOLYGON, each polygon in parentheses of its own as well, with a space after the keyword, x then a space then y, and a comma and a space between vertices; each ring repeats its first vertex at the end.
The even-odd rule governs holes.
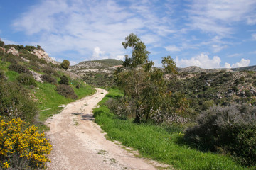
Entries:
POLYGON ((122 42, 135 33, 161 65, 256 65, 256 0, 8 0, 0 4, 0 38, 6 44, 41 45, 72 64, 122 60, 122 42))

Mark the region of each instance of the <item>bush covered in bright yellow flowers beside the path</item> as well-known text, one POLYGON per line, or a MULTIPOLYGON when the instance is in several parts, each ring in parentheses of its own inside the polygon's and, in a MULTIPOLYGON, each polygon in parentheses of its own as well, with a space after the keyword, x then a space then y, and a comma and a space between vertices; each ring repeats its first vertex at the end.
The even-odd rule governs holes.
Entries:
POLYGON ((6 122, 0 117, 0 169, 44 169, 50 162, 52 145, 35 125, 14 118, 6 122))

